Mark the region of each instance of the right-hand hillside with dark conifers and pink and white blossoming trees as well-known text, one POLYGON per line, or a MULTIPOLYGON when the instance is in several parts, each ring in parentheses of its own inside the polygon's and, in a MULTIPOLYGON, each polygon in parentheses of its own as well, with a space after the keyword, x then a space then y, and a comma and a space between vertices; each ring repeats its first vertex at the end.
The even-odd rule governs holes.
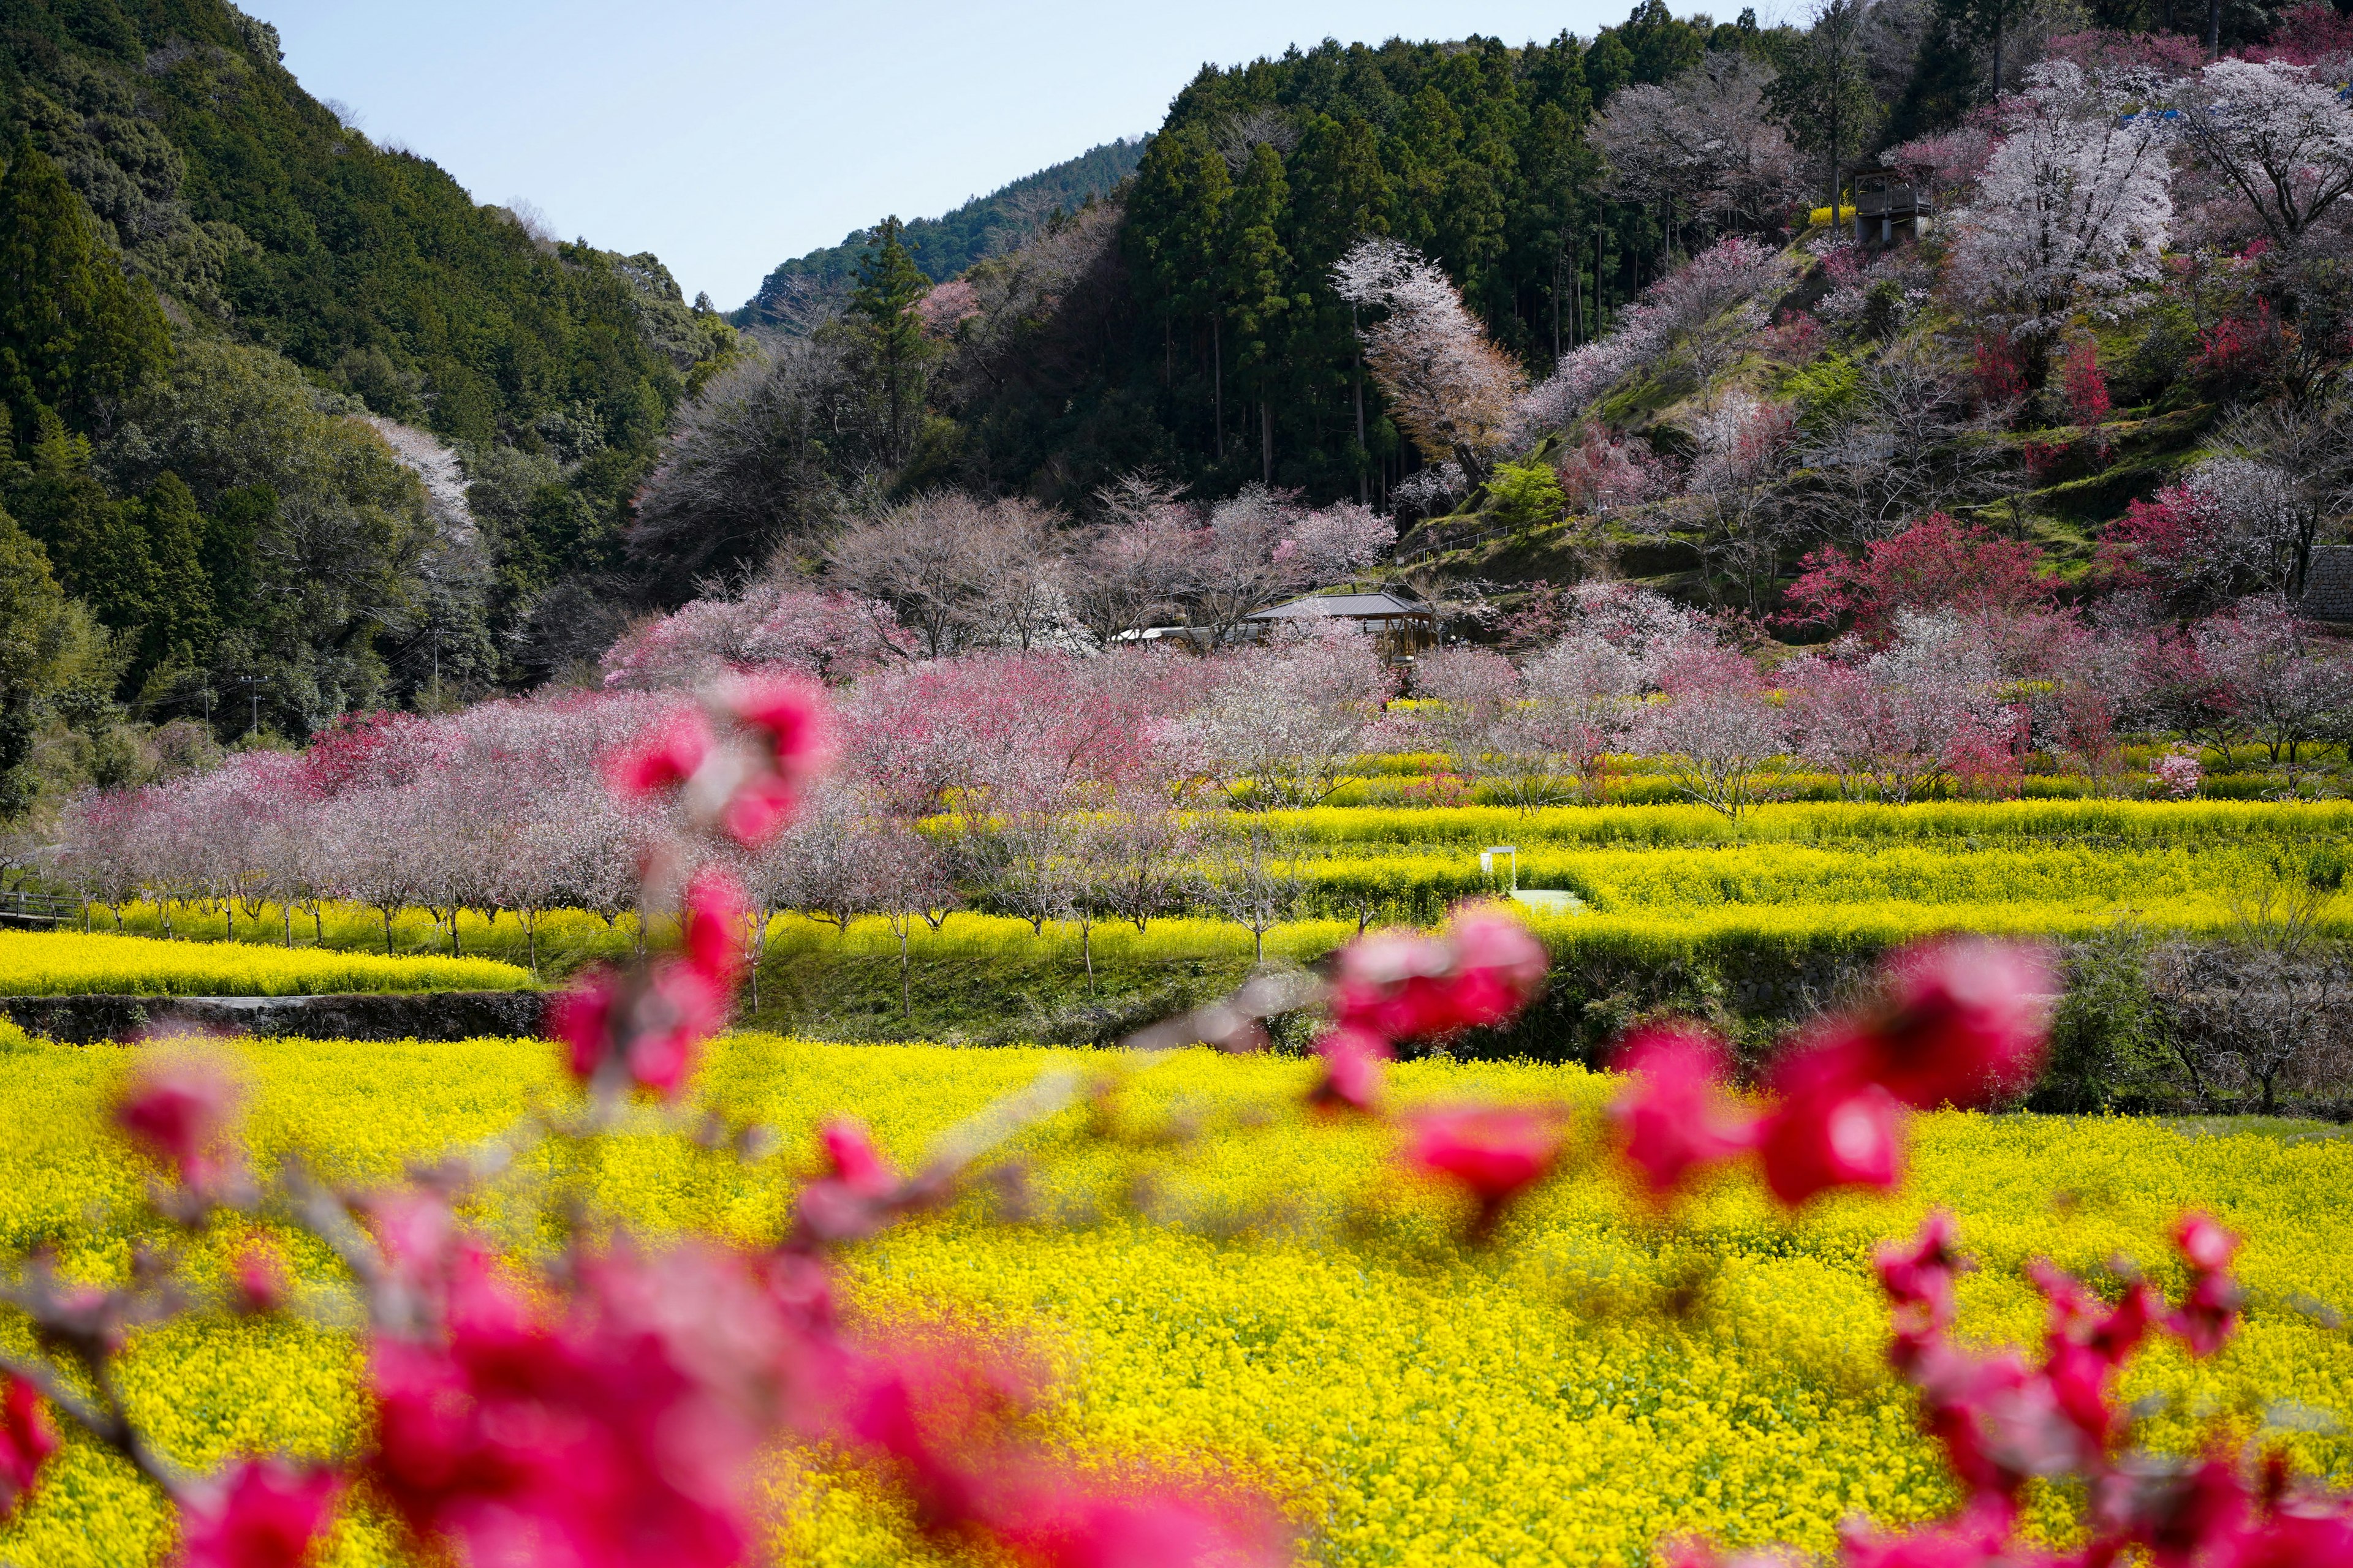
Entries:
POLYGON ((2261 409, 2339 418, 2341 99, 2287 158, 2318 162, 2282 165, 2313 183, 2294 233, 2245 197, 2261 160, 2177 132, 2214 56, 2217 82, 2268 61, 2304 85, 2264 94, 2327 101, 2346 26, 2144 0, 1824 0, 1760 26, 1642 0, 1588 40, 1205 68, 1132 181, 1014 252, 934 282, 878 226, 845 299, 685 411, 631 552, 678 599, 828 571, 847 520, 941 489, 1118 524, 1148 477, 1198 517, 1252 484, 1475 512, 1407 536, 1400 569, 1475 628, 1591 574, 1781 614, 1812 550, 1937 508, 2035 541, 2075 592, 2129 505, 2278 447, 2242 440, 2261 409), (2038 172, 1988 179, 2002 146, 2038 172), (1925 212, 1897 244, 1847 212, 1887 162, 1925 212), (2002 252, 1986 235, 2019 212, 2078 249, 2002 252), (1351 284, 1367 240, 1395 249, 1351 284), (1417 381, 1417 353, 1454 362, 1417 381), (1765 444, 1746 470, 1741 442, 1765 444))

